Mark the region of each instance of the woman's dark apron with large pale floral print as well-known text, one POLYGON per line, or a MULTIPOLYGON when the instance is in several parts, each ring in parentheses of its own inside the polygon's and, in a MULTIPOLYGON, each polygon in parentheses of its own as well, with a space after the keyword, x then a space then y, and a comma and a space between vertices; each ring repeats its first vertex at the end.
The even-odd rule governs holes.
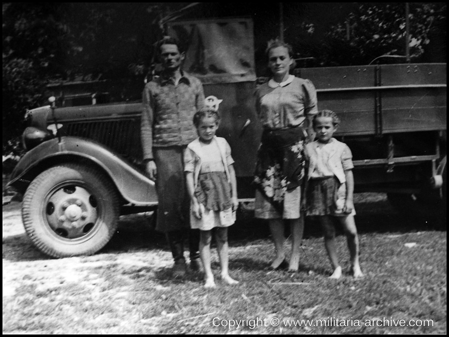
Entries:
POLYGON ((264 130, 262 134, 254 183, 257 190, 280 214, 285 209, 287 191, 299 188, 304 180, 305 137, 302 127, 264 130))

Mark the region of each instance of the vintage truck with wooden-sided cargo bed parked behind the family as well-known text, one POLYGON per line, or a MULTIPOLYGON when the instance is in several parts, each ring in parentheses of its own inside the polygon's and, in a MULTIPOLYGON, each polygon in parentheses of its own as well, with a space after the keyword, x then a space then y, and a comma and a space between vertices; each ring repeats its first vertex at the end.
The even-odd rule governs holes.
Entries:
MULTIPOLYGON (((236 162, 238 196, 251 184, 261 127, 249 18, 174 22, 189 41, 184 69, 206 96, 223 99, 219 135, 236 162)), ((356 192, 386 192, 397 206, 446 217, 446 64, 295 69, 318 92, 318 108, 342 120, 336 137, 354 156, 356 192)), ((27 153, 9 186, 23 193, 22 219, 33 244, 52 257, 93 254, 121 214, 155 209, 155 185, 142 170, 141 101, 31 109, 27 153)))

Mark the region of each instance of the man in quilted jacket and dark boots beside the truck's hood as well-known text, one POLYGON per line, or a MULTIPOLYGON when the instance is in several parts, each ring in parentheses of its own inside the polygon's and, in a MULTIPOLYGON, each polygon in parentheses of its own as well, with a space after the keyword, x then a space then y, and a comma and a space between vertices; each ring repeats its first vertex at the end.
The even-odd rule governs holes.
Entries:
POLYGON ((194 114, 204 106, 200 80, 181 69, 185 54, 169 36, 158 44, 163 72, 145 85, 142 113, 142 148, 146 172, 156 180, 159 206, 156 230, 164 232, 175 260, 174 276, 186 274, 184 237, 188 233, 190 261, 199 269, 199 231, 189 224, 190 199, 183 151, 197 138, 194 114))

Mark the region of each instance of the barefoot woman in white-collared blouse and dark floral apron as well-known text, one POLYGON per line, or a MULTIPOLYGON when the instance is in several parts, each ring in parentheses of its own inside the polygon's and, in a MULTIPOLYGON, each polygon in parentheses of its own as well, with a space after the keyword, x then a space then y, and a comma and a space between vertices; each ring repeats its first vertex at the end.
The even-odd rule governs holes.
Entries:
POLYGON ((294 62, 290 45, 276 40, 268 45, 266 53, 272 77, 255 93, 263 126, 254 177, 255 217, 269 221, 276 252, 270 269, 288 266, 290 272, 296 272, 304 231, 304 214, 300 210, 303 150, 304 142, 314 138, 311 117, 318 112, 316 90, 311 81, 290 75, 294 62), (283 248, 284 220, 290 224, 292 237, 289 263, 283 248))

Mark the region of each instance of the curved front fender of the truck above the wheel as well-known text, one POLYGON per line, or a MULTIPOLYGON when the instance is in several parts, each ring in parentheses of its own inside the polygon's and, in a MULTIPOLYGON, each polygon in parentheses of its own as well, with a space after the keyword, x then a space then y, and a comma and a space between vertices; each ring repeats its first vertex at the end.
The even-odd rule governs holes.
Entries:
POLYGON ((78 157, 71 160, 95 163, 109 176, 123 198, 133 205, 153 206, 158 203, 155 183, 152 180, 107 147, 78 137, 62 137, 60 142, 58 139, 51 139, 27 152, 14 168, 8 186, 19 182, 29 184, 29 181, 22 178, 28 175, 36 176, 31 173, 33 169, 37 170, 43 162, 59 163, 63 157, 78 157))

